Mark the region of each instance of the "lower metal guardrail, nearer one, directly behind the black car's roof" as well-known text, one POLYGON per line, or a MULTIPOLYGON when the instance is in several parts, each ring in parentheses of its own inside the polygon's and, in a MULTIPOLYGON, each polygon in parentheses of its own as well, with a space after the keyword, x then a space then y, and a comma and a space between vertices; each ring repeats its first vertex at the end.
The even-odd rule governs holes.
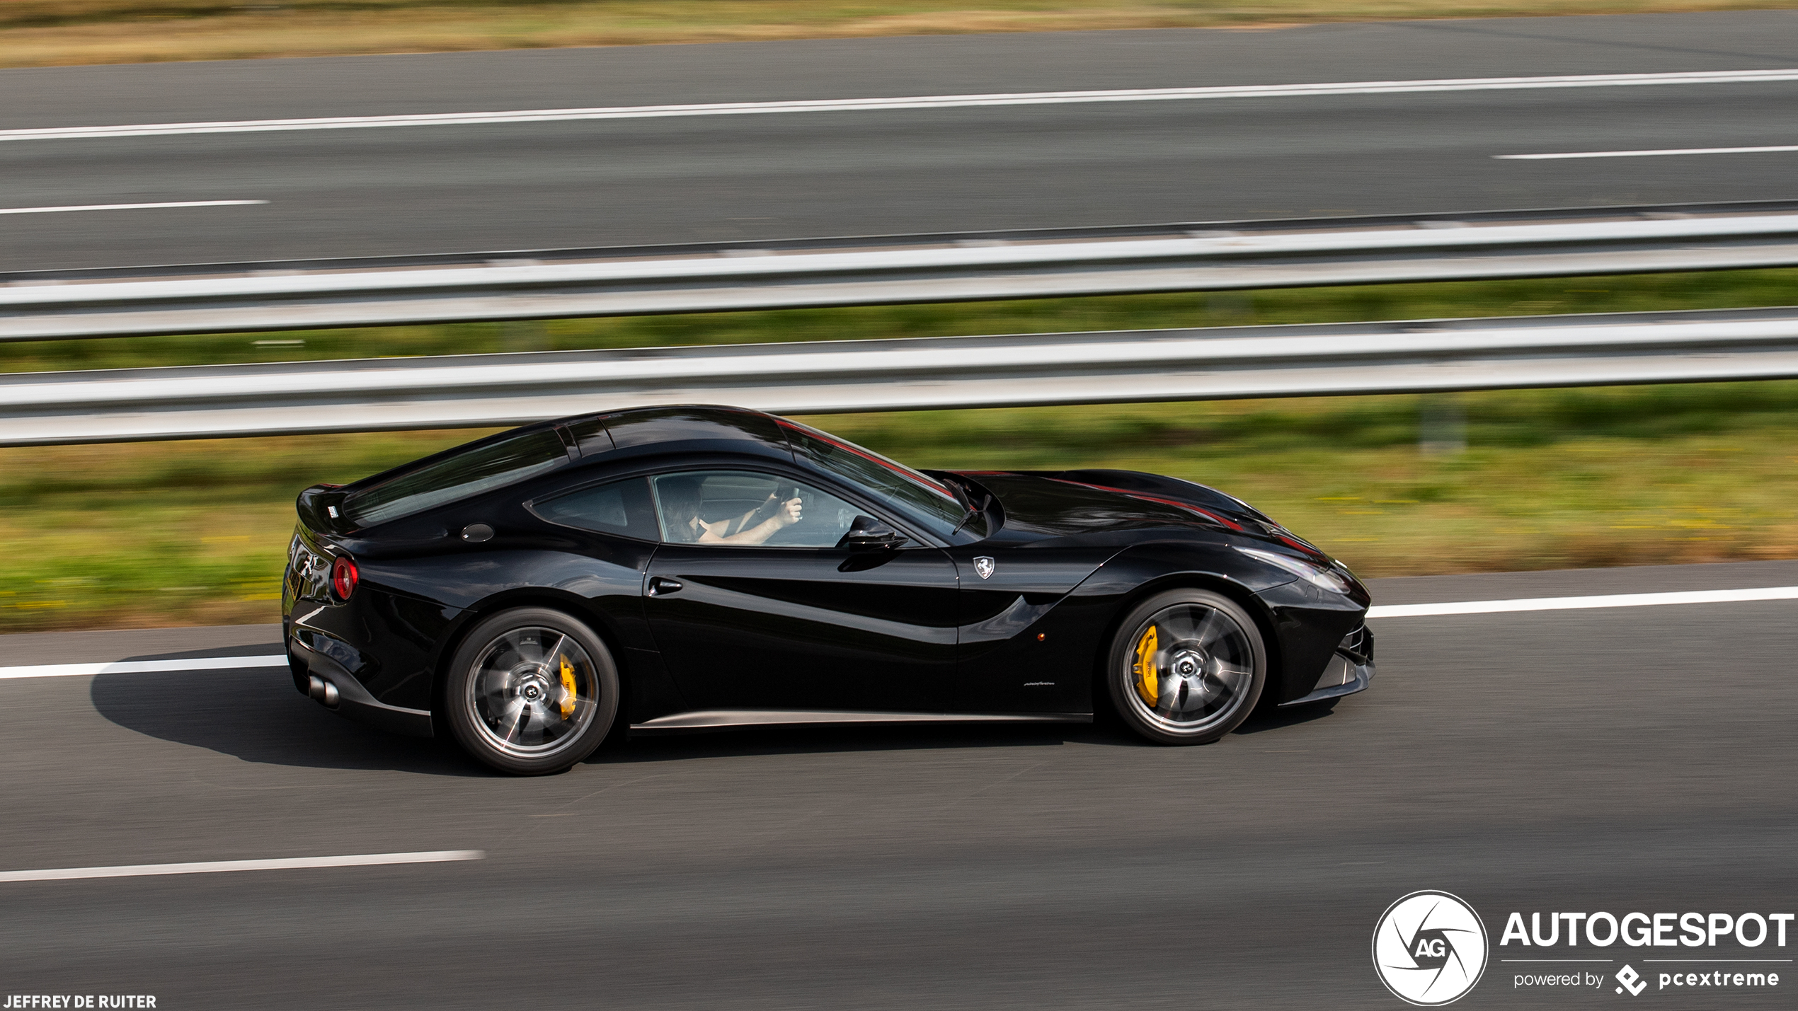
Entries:
POLYGON ((1798 307, 913 338, 0 377, 0 445, 1798 377, 1798 307))

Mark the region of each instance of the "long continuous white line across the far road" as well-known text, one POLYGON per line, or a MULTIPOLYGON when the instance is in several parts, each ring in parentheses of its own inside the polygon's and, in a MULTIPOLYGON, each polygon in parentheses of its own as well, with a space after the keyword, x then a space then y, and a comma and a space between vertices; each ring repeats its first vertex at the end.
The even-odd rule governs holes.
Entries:
POLYGON ((797 102, 703 102, 681 106, 599 106, 581 110, 505 110, 379 117, 259 119, 0 129, 0 140, 74 140, 92 136, 171 136, 191 133, 268 133, 291 129, 370 129, 385 126, 471 126, 588 119, 665 119, 759 113, 841 113, 883 110, 955 110, 980 106, 1057 106, 1077 102, 1170 102, 1194 99, 1289 99, 1313 95, 1402 95, 1419 92, 1510 92, 1539 88, 1627 88, 1645 84, 1755 84, 1798 81, 1798 68, 1719 70, 1703 74, 1580 74, 1559 77, 1449 77, 1435 81, 1345 81, 1327 84, 1250 84, 1223 88, 1122 88, 1109 92, 1018 92, 994 95, 913 95, 899 99, 814 99, 797 102))

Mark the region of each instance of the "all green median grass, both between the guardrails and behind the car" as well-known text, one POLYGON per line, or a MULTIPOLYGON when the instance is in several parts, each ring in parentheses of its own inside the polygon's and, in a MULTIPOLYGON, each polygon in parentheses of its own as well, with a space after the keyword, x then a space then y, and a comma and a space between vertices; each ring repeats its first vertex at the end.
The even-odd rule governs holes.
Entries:
MULTIPOLYGON (((40 341, 0 347, 0 368, 1784 303, 1798 271, 40 341)), ((921 467, 1190 478, 1370 576, 1798 557, 1798 382, 813 420, 921 467), (1420 453, 1426 406, 1465 413, 1465 453, 1420 453)), ((0 449, 0 630, 271 621, 300 488, 476 435, 0 449)))

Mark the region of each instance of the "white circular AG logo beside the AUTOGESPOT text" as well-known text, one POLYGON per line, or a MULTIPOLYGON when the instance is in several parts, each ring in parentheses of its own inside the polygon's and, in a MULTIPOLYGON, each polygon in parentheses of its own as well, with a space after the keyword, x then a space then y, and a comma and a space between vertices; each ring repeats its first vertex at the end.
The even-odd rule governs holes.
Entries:
POLYGON ((1406 1004, 1460 1000, 1480 982, 1485 955, 1485 923, 1449 892, 1411 892, 1374 927, 1374 971, 1406 1004))

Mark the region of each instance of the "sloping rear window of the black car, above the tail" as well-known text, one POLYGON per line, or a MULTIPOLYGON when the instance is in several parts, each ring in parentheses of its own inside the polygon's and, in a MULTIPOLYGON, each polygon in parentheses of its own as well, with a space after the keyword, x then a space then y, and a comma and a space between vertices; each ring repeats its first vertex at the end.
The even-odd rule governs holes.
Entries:
POLYGON ((566 462, 568 451, 554 431, 516 435, 473 445, 363 488, 345 499, 343 515, 356 526, 376 526, 523 481, 566 462))

